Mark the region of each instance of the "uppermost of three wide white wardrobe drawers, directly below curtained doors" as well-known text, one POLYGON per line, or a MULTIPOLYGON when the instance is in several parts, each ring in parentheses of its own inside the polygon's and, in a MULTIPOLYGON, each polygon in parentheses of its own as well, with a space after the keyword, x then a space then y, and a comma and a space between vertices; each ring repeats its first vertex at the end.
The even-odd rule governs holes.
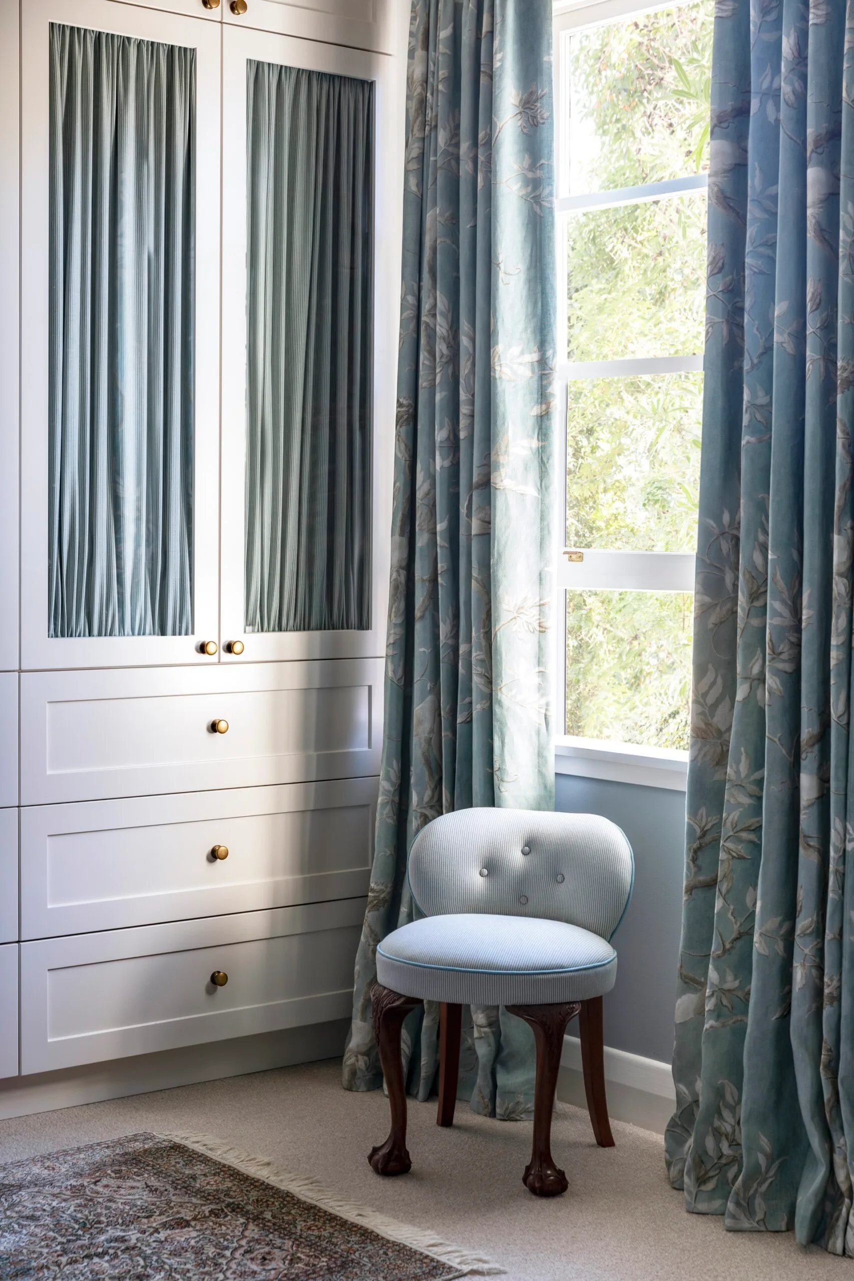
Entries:
POLYGON ((22 804, 376 775, 382 681, 382 658, 24 673, 22 804))

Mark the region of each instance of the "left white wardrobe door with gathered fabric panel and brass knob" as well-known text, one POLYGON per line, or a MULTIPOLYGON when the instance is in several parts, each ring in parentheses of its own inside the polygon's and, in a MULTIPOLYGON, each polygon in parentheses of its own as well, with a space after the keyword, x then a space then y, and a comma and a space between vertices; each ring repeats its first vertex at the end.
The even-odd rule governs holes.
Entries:
POLYGON ((22 37, 22 666, 209 662, 219 27, 32 0, 22 37))

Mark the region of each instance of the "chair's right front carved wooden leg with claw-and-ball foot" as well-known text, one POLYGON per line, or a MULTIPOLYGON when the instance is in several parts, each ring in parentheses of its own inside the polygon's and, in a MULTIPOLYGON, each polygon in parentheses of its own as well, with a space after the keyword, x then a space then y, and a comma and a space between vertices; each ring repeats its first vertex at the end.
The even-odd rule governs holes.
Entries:
POLYGON ((579 1012, 579 1003, 556 1006, 507 1006, 534 1030, 536 1084, 534 1086, 534 1143, 522 1182, 535 1196, 560 1196, 568 1184, 552 1159, 552 1111, 561 1066, 563 1031, 579 1012))

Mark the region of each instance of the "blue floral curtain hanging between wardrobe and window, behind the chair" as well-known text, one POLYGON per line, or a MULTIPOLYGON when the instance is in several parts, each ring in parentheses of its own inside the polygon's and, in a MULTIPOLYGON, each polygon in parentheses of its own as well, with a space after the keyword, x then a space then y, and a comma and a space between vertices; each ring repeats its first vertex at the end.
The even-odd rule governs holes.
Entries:
MULTIPOLYGON (((411 920, 406 858, 430 819, 551 808, 554 214, 552 6, 415 0, 385 726, 376 849, 343 1081, 375 1089, 376 944, 411 920)), ((405 1029, 430 1093, 438 1008, 405 1029)), ((474 1009, 461 1097, 533 1108, 533 1038, 474 1009)))

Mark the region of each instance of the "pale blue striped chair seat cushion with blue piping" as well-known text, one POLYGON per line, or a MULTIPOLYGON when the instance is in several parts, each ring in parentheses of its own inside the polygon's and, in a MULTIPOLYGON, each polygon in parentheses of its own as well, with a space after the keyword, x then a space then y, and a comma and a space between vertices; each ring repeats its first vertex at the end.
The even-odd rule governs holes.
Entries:
POLYGON ((613 988, 609 943, 530 916, 428 916, 376 949, 376 977, 405 997, 474 1006, 588 1000, 613 988))

